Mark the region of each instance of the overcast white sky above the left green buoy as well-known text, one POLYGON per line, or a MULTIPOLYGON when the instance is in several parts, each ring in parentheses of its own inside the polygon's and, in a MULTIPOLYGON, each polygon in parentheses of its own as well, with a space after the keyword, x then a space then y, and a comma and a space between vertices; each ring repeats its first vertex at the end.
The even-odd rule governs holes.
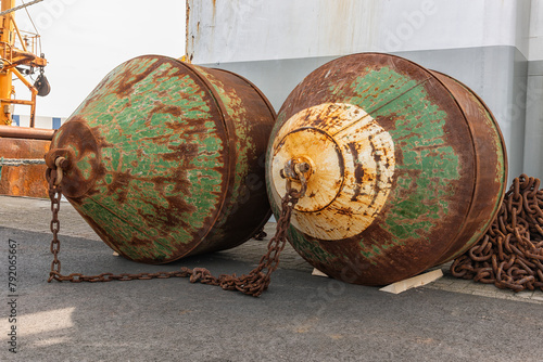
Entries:
MULTIPOLYGON (((108 73, 135 56, 185 54, 185 0, 43 0, 27 10, 49 62, 51 92, 37 98, 38 116, 68 117, 108 73)), ((25 10, 15 21, 34 33, 25 10)), ((13 85, 17 99, 29 99, 21 81, 13 85)), ((15 114, 29 107, 17 105, 15 114)))

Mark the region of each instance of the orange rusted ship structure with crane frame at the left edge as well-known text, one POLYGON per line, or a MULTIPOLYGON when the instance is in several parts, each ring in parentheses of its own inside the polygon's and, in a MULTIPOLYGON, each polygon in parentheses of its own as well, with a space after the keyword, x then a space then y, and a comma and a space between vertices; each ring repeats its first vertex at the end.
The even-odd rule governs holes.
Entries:
POLYGON ((0 12, 0 194, 13 196, 47 197, 45 165, 29 165, 43 158, 49 150, 53 130, 36 129, 36 95, 47 95, 49 83, 43 76, 47 60, 37 55, 39 35, 18 29, 15 23, 17 9, 36 3, 15 7, 15 0, 2 0, 0 12), (31 85, 24 75, 39 69, 36 83, 31 85), (16 100, 14 78, 20 79, 30 91, 30 100, 16 100), (30 128, 12 125, 13 106, 30 106, 30 128), (15 161, 5 163, 4 159, 15 161))

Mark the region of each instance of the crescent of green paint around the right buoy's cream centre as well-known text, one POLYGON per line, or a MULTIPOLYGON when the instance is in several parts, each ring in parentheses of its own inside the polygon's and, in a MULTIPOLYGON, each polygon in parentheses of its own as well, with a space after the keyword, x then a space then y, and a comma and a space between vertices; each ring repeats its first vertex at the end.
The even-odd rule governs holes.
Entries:
MULTIPOLYGON (((403 245, 406 238, 425 238, 433 225, 431 220, 447 214, 447 193, 452 190, 447 185, 459 178, 458 156, 444 145, 446 114, 429 100, 422 83, 388 67, 366 70, 350 87, 357 95, 345 96, 344 102, 361 106, 375 119, 394 119, 389 133, 403 161, 395 165, 396 186, 389 196, 397 202, 381 227, 392 234, 394 245, 403 245)), ((345 93, 334 87, 341 85, 331 90, 345 93)), ((379 241, 361 241, 362 255, 371 259, 381 254, 381 249, 369 246, 376 244, 379 241)))

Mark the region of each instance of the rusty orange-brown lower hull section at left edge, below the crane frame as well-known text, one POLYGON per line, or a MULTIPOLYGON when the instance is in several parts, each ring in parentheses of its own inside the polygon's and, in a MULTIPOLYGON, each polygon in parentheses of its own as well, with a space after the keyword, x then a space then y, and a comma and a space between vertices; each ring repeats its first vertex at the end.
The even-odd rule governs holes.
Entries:
MULTIPOLYGON (((0 157, 42 160, 50 143, 45 140, 0 138, 0 157)), ((48 197, 45 173, 46 165, 0 166, 0 195, 48 197)))

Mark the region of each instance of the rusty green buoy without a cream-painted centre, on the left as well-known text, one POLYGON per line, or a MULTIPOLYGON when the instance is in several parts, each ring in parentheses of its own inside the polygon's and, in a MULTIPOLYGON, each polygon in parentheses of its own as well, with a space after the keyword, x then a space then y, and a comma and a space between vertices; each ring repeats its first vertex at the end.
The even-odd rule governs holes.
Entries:
POLYGON ((58 130, 62 193, 112 249, 165 263, 249 240, 270 216, 275 120, 247 79, 147 55, 112 70, 58 130))

